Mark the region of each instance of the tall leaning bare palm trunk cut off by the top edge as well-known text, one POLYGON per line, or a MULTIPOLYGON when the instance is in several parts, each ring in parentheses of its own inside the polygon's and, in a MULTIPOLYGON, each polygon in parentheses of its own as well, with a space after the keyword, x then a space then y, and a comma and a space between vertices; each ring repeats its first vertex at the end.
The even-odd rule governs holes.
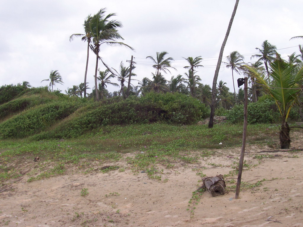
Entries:
POLYGON ((229 32, 231 30, 232 21, 234 20, 238 4, 239 4, 239 0, 236 0, 234 11, 231 14, 231 18, 230 18, 230 21, 229 21, 229 24, 228 24, 228 28, 227 28, 227 31, 226 31, 226 34, 225 34, 225 38, 224 38, 222 46, 221 46, 219 59, 218 59, 218 63, 217 63, 216 71, 215 71, 215 76, 214 76, 214 80, 212 82, 211 111, 210 111, 208 128, 212 128, 214 126, 217 80, 218 80, 219 70, 220 70, 220 66, 221 66, 221 62, 222 62, 224 47, 225 47, 225 44, 227 42, 229 32))

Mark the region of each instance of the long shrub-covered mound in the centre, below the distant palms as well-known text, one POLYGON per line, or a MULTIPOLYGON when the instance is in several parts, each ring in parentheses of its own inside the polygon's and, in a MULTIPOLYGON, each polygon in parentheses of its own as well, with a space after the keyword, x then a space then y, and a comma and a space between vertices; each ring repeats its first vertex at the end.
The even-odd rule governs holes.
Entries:
POLYGON ((200 101, 184 94, 149 93, 140 98, 129 97, 119 102, 114 99, 82 107, 55 130, 33 138, 41 140, 49 137, 78 137, 97 127, 117 124, 152 122, 191 124, 205 117, 207 111, 207 107, 200 101))

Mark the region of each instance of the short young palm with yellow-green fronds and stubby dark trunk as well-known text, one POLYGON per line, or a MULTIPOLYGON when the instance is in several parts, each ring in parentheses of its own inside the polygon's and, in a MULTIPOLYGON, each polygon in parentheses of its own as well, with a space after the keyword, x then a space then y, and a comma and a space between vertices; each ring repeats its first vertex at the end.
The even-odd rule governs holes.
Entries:
POLYGON ((280 146, 281 149, 289 148, 290 137, 287 120, 291 107, 295 104, 302 88, 303 66, 297 67, 288 62, 282 61, 277 55, 275 61, 270 65, 271 73, 268 78, 264 71, 254 67, 245 66, 247 73, 251 77, 255 77, 258 84, 261 84, 267 94, 269 94, 276 102, 282 117, 282 125, 280 130, 280 146))

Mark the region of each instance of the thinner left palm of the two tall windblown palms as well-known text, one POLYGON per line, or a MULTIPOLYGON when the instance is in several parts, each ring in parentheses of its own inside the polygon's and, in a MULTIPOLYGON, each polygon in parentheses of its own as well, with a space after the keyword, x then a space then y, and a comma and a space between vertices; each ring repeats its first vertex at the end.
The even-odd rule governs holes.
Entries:
MULTIPOLYGON (((86 77, 87 77, 87 69, 88 69, 88 56, 89 56, 89 48, 90 48, 90 44, 92 42, 92 32, 89 29, 89 22, 92 19, 91 15, 88 15, 87 18, 84 21, 83 27, 84 27, 84 31, 85 34, 72 34, 69 37, 69 41, 72 41, 75 37, 82 37, 82 41, 87 41, 87 54, 86 54, 86 65, 85 65, 85 73, 84 73, 84 97, 86 97, 86 89, 88 89, 86 87, 86 77)), ((82 93, 81 93, 81 97, 82 97, 82 93)))

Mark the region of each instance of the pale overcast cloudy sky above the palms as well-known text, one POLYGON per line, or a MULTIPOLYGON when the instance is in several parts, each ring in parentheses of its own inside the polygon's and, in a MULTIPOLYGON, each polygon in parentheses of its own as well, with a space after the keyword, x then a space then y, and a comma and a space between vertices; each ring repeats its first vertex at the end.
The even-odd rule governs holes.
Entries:
MULTIPOLYGON (((126 60, 133 55, 136 78, 151 79, 155 70, 146 56, 156 57, 156 52, 167 51, 178 70, 165 75, 170 80, 171 76, 187 72, 183 57, 201 56, 204 67, 198 69, 197 75, 201 83, 211 85, 234 4, 235 0, 2 0, 0 86, 22 81, 33 87, 47 86, 47 81, 41 81, 49 77, 51 70, 58 70, 63 78, 64 85, 55 87, 62 93, 82 83, 86 43, 81 38, 70 42, 69 36, 83 33, 85 18, 100 8, 117 14, 114 19, 123 24, 119 31, 124 42, 135 48, 134 52, 103 46, 100 55, 110 67, 118 70, 120 62, 129 65, 126 60)), ((303 2, 298 0, 240 0, 223 56, 238 51, 245 56, 245 62, 256 61, 250 57, 264 40, 275 45, 284 59, 293 52, 299 53, 298 44, 303 44, 303 39, 289 39, 303 35, 302 8, 303 2)), ((105 70, 101 62, 99 68, 105 70)), ((95 55, 91 52, 89 87, 94 86, 94 69, 95 55)), ((235 75, 235 83, 239 77, 243 76, 235 75)), ((224 65, 220 80, 233 90, 231 70, 224 65)), ((109 91, 118 89, 108 87, 109 91)))

